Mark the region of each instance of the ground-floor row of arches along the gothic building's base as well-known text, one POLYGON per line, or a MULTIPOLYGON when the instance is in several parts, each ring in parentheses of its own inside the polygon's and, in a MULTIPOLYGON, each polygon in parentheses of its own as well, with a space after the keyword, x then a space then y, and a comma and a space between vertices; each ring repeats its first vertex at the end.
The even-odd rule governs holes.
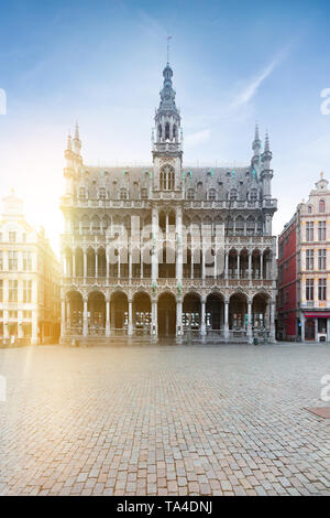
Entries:
POLYGON ((114 291, 107 296, 91 291, 82 298, 69 291, 62 302, 62 338, 145 337, 157 339, 204 339, 252 342, 258 336, 275 339, 274 302, 264 292, 249 296, 234 292, 224 298, 218 291, 206 296, 188 292, 177 296, 164 291, 151 296, 138 291, 128 296, 114 291))

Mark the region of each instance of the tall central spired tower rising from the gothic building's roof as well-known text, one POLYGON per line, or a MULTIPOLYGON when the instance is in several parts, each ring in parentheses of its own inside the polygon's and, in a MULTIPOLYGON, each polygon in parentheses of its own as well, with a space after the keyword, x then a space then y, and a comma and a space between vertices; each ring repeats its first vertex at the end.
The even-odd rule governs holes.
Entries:
POLYGON ((164 85, 161 102, 155 114, 153 130, 154 191, 182 188, 183 131, 180 114, 175 104, 173 71, 167 63, 163 71, 164 85))

